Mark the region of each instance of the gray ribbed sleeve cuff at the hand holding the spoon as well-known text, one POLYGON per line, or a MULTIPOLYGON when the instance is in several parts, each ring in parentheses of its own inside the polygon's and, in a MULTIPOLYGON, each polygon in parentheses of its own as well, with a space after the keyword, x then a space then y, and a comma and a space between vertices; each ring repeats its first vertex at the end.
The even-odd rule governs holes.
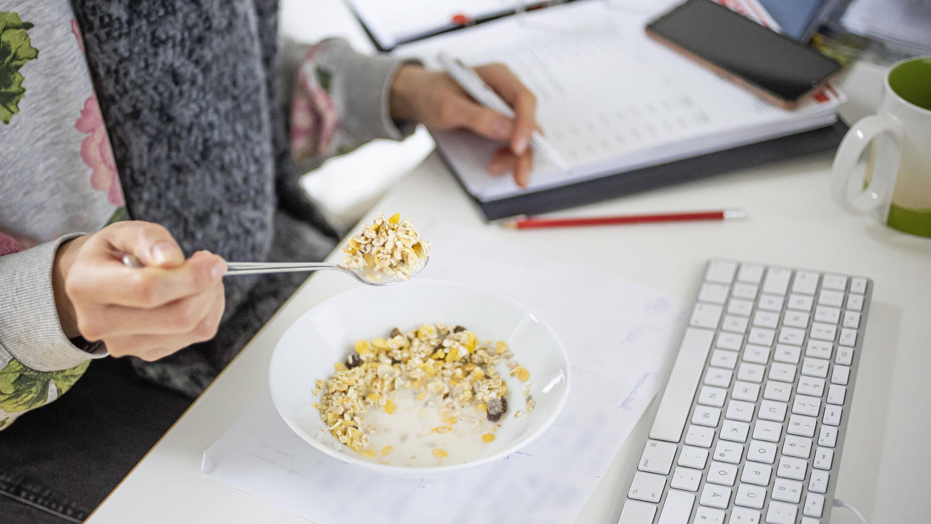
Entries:
POLYGON ((58 371, 107 355, 103 344, 82 350, 61 331, 52 266, 72 233, 20 253, 0 256, 0 346, 36 371, 58 371))

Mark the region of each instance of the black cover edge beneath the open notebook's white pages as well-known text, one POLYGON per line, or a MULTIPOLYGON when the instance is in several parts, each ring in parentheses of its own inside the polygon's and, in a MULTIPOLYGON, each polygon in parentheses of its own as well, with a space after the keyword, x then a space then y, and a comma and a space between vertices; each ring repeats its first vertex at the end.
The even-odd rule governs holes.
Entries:
MULTIPOLYGON (((721 174, 756 167, 768 162, 791 159, 835 149, 841 144, 847 126, 839 118, 828 127, 812 131, 803 131, 789 136, 774 138, 756 144, 741 145, 733 149, 708 153, 681 159, 665 164, 658 164, 629 172, 619 172, 593 180, 578 182, 569 186, 553 187, 525 195, 509 197, 503 200, 487 202, 476 200, 481 212, 488 220, 498 220, 518 214, 543 214, 575 206, 609 200, 655 187, 670 186, 689 180, 696 180, 721 174)), ((452 163, 437 149, 443 162, 456 175, 456 180, 463 190, 459 174, 452 163)), ((468 192, 466 190, 466 192, 468 192)))

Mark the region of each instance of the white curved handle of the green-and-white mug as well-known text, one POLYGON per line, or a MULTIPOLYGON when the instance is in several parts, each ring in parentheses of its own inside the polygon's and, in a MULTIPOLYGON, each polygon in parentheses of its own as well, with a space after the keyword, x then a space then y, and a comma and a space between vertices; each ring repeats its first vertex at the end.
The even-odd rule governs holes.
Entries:
MULTIPOLYGON (((831 193, 843 209, 853 214, 864 214, 881 207, 888 208, 892 200, 892 191, 896 186, 901 137, 899 123, 885 115, 861 118, 847 131, 831 168, 831 193), (883 133, 892 138, 896 151, 892 155, 880 155, 877 152, 873 162, 872 180, 870 185, 864 188, 866 177, 855 179, 853 176, 857 161, 867 146, 883 133)), ((882 219, 885 220, 885 215, 882 219)))

